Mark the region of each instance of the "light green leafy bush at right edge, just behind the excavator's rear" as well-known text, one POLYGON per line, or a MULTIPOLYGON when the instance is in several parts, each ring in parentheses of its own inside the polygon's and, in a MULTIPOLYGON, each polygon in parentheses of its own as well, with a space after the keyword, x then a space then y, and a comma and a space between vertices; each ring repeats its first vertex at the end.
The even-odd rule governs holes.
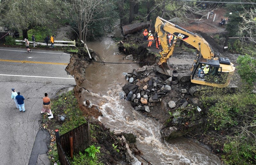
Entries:
POLYGON ((256 60, 249 55, 239 56, 236 61, 239 66, 237 66, 237 72, 241 79, 253 85, 256 83, 256 60))

